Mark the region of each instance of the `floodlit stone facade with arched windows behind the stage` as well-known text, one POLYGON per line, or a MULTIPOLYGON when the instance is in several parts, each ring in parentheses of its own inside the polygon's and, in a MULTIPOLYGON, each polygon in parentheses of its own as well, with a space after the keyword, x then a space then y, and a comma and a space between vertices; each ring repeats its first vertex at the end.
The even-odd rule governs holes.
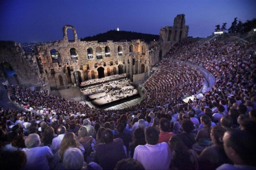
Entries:
POLYGON ((68 41, 64 28, 63 40, 40 43, 36 46, 38 55, 42 59, 44 72, 52 88, 62 87, 64 81, 66 85, 76 84, 75 72, 81 82, 98 78, 98 69, 104 69, 104 77, 126 73, 129 78, 143 70, 144 72, 150 70, 148 45, 144 41, 97 42, 78 39, 68 41), (105 47, 107 47, 107 51, 105 51, 105 47), (91 53, 87 51, 89 48, 91 53), (52 49, 57 50, 58 59, 52 57, 50 52, 52 49), (71 52, 72 50, 75 53, 71 52), (99 57, 100 52, 102 52, 102 58, 99 57), (72 56, 71 53, 75 55, 72 56), (92 56, 90 56, 91 54, 92 56))

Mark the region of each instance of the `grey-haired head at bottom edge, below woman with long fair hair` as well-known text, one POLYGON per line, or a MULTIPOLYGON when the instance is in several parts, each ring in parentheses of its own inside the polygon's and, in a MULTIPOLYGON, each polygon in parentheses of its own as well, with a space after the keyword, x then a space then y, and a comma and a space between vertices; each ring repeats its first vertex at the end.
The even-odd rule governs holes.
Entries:
POLYGON ((84 155, 78 148, 67 149, 63 155, 63 165, 67 170, 81 170, 84 155))

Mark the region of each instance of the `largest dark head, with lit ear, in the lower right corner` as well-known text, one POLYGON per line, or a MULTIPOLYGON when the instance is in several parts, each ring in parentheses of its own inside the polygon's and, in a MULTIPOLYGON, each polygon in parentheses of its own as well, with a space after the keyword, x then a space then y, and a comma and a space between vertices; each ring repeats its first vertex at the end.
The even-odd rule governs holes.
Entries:
POLYGON ((235 164, 256 166, 256 139, 246 131, 232 129, 225 132, 223 137, 227 157, 235 164))

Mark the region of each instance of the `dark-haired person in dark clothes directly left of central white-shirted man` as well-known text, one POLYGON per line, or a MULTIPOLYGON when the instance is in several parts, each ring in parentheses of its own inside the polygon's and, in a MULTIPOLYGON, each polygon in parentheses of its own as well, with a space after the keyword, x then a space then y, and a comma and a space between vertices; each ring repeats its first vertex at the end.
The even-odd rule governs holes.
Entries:
POLYGON ((134 150, 138 145, 146 144, 145 132, 141 128, 138 128, 133 133, 133 142, 130 145, 131 157, 133 157, 134 150))

